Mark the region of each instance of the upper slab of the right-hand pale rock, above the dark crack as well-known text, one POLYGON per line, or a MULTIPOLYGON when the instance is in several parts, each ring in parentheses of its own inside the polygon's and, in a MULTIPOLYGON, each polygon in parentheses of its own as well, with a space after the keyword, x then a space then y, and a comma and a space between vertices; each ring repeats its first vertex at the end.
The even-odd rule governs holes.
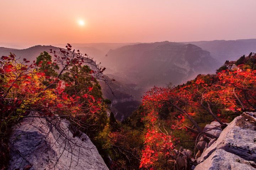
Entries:
POLYGON ((256 161, 256 114, 245 112, 236 117, 220 134, 217 141, 197 159, 206 160, 217 149, 238 155, 241 159, 256 161))

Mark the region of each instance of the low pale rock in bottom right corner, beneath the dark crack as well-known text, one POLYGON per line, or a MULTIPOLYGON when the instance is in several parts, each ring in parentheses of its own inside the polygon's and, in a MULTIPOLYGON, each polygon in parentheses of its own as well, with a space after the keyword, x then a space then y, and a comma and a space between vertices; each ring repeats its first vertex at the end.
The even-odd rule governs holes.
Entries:
POLYGON ((217 149, 194 170, 255 170, 254 164, 254 161, 247 161, 223 149, 217 149))

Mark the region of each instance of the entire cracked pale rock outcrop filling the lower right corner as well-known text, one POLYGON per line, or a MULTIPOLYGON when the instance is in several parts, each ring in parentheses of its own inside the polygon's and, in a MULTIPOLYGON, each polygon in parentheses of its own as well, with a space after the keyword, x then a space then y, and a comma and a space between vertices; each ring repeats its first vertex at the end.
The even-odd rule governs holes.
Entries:
POLYGON ((256 168, 256 113, 236 117, 211 145, 206 144, 195 170, 256 168))

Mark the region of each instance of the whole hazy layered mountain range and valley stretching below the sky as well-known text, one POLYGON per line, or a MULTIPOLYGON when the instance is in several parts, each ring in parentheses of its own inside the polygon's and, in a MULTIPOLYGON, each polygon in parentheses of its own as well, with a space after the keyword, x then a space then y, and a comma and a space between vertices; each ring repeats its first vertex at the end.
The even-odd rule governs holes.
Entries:
MULTIPOLYGON (((256 39, 214 40, 188 43, 91 43, 72 44, 81 53, 94 57, 107 69, 105 77, 116 79, 110 85, 103 82, 103 97, 112 101, 110 108, 118 120, 135 110, 143 93, 153 86, 182 84, 198 74, 214 73, 225 60, 236 60, 256 49, 256 39), (112 94, 113 92, 113 94, 112 94)), ((64 44, 58 44, 64 47, 64 44)), ((0 47, 0 56, 10 52, 17 57, 36 60, 43 51, 58 50, 56 46, 36 45, 27 49, 0 47)))

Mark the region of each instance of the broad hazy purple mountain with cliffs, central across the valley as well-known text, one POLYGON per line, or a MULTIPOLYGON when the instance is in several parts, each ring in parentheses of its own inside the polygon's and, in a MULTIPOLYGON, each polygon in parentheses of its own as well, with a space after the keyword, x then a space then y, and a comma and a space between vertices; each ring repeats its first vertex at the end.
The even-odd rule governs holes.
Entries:
POLYGON ((213 73, 220 63, 196 45, 157 42, 128 45, 110 50, 108 67, 135 79, 144 89, 180 84, 199 73, 213 73))

